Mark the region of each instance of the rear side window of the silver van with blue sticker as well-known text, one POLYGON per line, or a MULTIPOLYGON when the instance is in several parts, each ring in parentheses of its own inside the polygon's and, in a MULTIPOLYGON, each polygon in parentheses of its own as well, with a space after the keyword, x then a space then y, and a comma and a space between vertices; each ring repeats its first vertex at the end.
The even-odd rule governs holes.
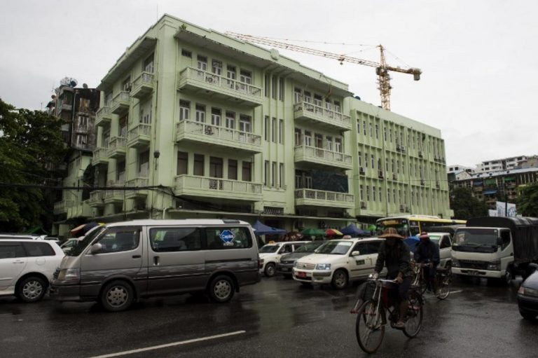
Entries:
POLYGON ((250 231, 244 227, 223 226, 205 229, 207 249, 247 249, 252 247, 250 231))

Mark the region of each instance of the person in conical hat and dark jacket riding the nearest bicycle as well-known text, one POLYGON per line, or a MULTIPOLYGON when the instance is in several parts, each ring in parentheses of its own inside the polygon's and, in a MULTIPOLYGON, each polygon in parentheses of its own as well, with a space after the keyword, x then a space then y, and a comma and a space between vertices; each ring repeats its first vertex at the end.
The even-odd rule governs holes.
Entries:
POLYGON ((373 278, 377 279, 383 266, 387 267, 387 279, 396 280, 398 285, 398 300, 399 303, 399 319, 394 325, 395 328, 403 329, 406 324, 408 302, 407 292, 411 287, 411 252, 409 247, 403 242, 405 237, 398 234, 395 228, 387 228, 380 238, 384 238, 385 242, 381 242, 378 252, 378 261, 375 262, 373 278))

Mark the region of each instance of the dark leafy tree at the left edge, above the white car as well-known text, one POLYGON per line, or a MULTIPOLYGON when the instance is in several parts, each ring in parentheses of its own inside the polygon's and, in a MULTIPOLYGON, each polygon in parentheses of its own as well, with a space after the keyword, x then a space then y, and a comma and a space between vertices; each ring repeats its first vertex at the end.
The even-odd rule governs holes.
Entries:
POLYGON ((0 99, 0 231, 50 225, 53 192, 39 186, 56 183, 55 167, 65 155, 61 125, 43 111, 0 99))

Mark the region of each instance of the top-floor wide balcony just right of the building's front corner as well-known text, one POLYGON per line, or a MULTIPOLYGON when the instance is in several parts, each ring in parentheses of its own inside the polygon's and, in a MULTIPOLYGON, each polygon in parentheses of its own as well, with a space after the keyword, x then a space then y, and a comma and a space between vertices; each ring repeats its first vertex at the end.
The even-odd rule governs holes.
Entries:
POLYGON ((249 107, 259 106, 263 102, 261 88, 193 67, 179 72, 178 90, 249 107))

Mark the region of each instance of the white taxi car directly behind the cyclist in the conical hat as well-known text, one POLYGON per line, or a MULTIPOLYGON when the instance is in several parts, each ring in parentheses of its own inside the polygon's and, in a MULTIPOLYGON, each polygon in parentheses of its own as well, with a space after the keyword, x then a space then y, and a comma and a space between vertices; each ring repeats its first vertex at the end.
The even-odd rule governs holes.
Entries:
MULTIPOLYGON (((336 289, 373 273, 383 239, 329 240, 295 262, 294 280, 303 284, 331 284, 336 289)), ((386 269, 383 269, 386 272, 386 269)), ((384 273, 382 271, 382 273, 384 273)))

